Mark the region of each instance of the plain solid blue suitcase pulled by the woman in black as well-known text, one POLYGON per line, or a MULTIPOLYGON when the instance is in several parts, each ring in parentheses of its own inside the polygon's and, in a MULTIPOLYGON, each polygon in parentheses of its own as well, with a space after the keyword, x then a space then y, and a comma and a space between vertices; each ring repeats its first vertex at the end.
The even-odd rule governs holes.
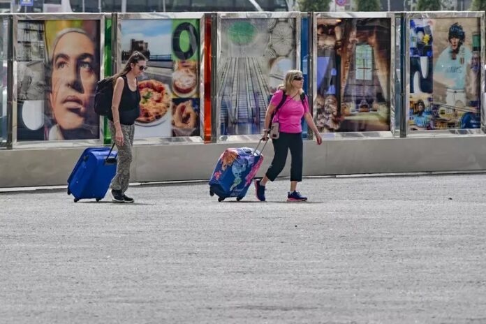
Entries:
POLYGON ((74 202, 92 198, 100 201, 105 197, 117 172, 117 152, 112 152, 113 147, 90 147, 82 152, 68 178, 68 195, 73 194, 74 202))

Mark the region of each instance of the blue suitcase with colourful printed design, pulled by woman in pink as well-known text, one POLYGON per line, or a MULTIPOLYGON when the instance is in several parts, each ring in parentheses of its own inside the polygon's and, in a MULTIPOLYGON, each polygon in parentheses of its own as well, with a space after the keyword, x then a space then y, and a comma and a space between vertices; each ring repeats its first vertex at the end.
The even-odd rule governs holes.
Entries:
MULTIPOLYGON (((240 201, 246 195, 246 191, 255 177, 256 172, 263 162, 263 155, 258 151, 260 142, 255 149, 240 147, 226 149, 219 157, 216 168, 209 179, 209 195, 218 196, 221 202, 228 197, 236 197, 240 201)), ((267 141, 262 147, 265 149, 267 141)))

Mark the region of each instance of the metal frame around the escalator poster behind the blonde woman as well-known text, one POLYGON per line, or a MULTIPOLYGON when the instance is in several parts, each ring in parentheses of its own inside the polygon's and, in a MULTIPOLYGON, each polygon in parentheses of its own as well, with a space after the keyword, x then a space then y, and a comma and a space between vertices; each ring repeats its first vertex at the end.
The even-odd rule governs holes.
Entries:
MULTIPOLYGON (((214 47, 216 53, 216 61, 221 59, 221 20, 225 19, 279 19, 279 18, 294 18, 295 19, 295 68, 300 69, 300 33, 301 33, 301 18, 307 16, 307 13, 301 12, 242 12, 242 13, 217 13, 217 44, 214 47)), ((213 68, 214 78, 217 79, 217 66, 213 68)), ((250 135, 221 135, 221 104, 219 101, 219 83, 216 82, 216 105, 212 108, 212 113, 216 117, 216 122, 213 127, 216 127, 216 141, 217 142, 253 142, 261 138, 261 134, 250 135)))

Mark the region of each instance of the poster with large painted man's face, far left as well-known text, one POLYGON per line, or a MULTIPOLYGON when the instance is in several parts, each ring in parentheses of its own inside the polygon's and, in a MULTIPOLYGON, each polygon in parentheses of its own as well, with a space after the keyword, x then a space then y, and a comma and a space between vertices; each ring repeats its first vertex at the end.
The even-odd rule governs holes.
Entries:
POLYGON ((100 137, 93 108, 99 38, 99 20, 18 23, 18 141, 100 137))

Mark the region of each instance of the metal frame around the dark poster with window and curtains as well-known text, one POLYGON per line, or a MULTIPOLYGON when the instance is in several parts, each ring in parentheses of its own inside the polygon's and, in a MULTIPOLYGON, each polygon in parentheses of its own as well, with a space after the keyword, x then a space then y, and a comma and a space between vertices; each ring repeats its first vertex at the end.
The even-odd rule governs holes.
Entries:
MULTIPOLYGON (((367 13, 353 13, 353 12, 335 12, 335 13, 314 13, 314 20, 312 25, 313 31, 313 43, 317 43, 317 20, 318 18, 330 18, 330 19, 359 19, 359 18, 388 18, 390 19, 390 75, 388 82, 390 82, 390 131, 374 131, 374 132, 334 132, 334 133, 321 133, 324 138, 390 138, 394 137, 393 127, 395 124, 395 115, 392 112, 395 111, 395 102, 393 101, 394 91, 394 71, 395 71, 395 13, 384 13, 384 12, 367 12, 367 13)), ((317 80, 317 47, 314 46, 312 52, 313 59, 313 77, 314 81, 317 80)), ((314 98, 317 96, 316 84, 312 84, 312 92, 314 98)), ((313 115, 315 114, 314 105, 312 105, 313 115)))

